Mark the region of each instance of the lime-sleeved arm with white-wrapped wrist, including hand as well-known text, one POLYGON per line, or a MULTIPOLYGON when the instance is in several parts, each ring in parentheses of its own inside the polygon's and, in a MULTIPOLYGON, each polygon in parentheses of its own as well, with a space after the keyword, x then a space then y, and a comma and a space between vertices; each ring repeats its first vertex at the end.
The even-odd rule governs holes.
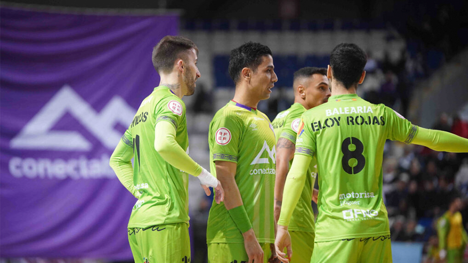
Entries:
POLYGON ((203 169, 176 142, 176 128, 170 122, 160 121, 155 126, 155 150, 170 165, 196 176, 205 186, 205 193, 210 195, 208 187, 216 189, 215 201, 224 200, 224 190, 221 183, 206 169, 203 169))

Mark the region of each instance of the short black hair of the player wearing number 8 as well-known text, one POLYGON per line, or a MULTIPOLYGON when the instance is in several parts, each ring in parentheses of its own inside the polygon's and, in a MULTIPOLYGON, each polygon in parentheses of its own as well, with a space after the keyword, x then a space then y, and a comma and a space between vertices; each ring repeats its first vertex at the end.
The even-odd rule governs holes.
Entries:
POLYGON ((366 53, 356 44, 341 43, 331 51, 333 77, 347 89, 359 82, 366 63, 366 53))

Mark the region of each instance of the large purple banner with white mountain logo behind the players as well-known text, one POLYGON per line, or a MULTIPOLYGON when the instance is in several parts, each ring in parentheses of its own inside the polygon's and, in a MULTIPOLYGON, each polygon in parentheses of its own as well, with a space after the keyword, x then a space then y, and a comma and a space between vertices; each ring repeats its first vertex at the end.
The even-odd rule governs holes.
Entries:
POLYGON ((0 256, 132 259, 109 157, 178 17, 0 9, 0 256))

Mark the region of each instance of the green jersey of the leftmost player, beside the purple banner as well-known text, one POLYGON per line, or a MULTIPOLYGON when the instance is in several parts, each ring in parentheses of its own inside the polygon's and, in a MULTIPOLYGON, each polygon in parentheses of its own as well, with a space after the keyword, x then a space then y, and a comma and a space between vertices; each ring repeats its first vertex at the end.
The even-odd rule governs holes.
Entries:
POLYGON ((176 142, 189 146, 185 104, 164 86, 155 88, 138 108, 122 136, 134 149, 134 187, 140 196, 133 207, 128 227, 147 227, 189 221, 188 174, 168 164, 155 150, 155 126, 170 122, 176 128, 176 142))

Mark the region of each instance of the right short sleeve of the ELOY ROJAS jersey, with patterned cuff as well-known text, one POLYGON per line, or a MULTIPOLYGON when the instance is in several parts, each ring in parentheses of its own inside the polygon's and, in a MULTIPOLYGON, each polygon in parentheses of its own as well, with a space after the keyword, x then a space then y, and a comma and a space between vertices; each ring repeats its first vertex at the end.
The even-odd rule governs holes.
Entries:
POLYGON ((411 124, 400 113, 385 107, 386 120, 388 121, 388 139, 410 144, 418 131, 418 126, 411 124))

